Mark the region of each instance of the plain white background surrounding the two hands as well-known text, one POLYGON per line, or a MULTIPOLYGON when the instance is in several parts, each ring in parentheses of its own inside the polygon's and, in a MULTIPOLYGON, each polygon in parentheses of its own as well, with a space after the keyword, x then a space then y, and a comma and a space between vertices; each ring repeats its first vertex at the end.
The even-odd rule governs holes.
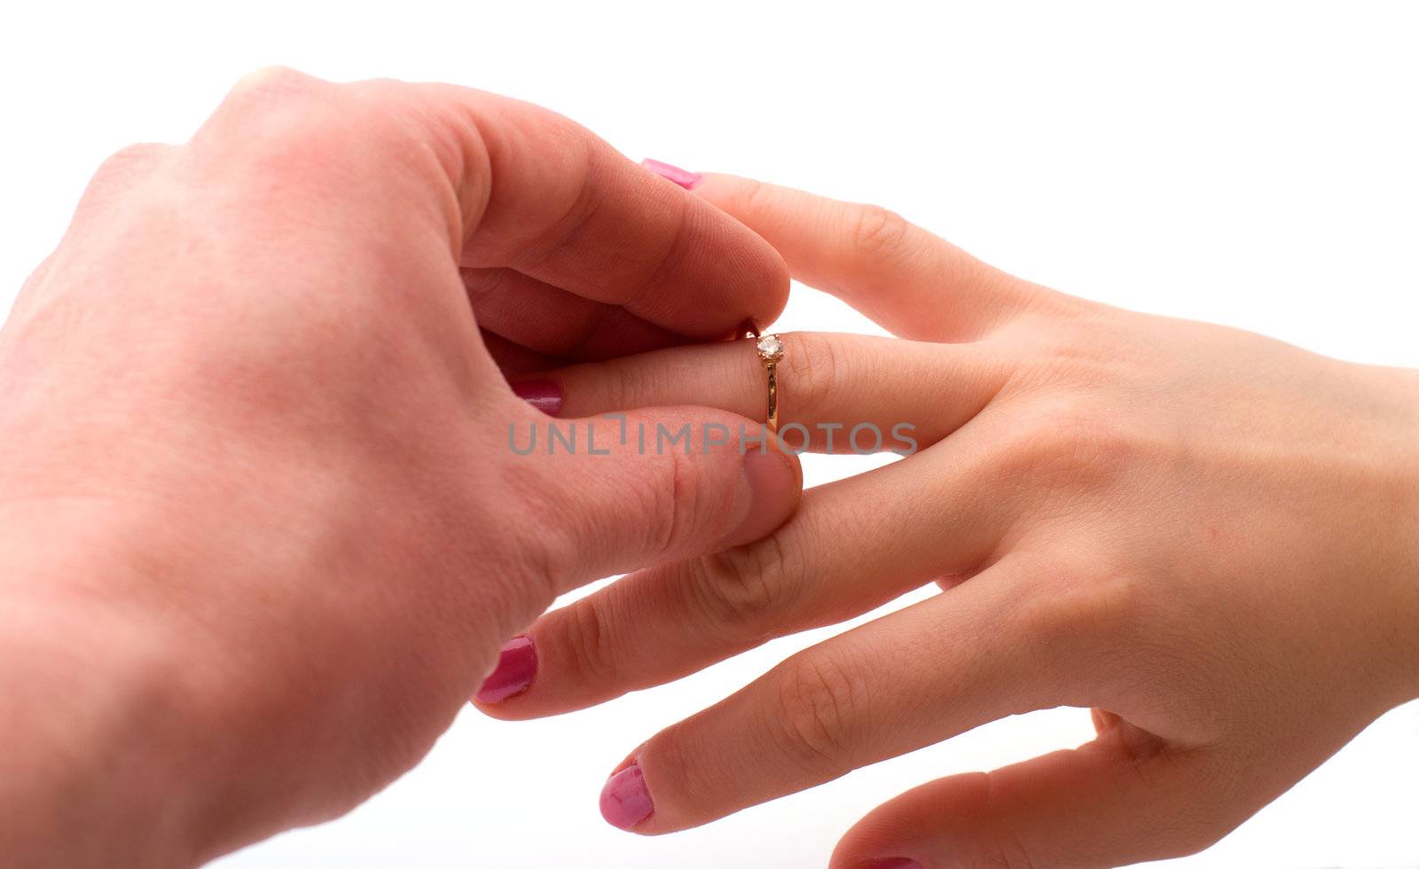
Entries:
MULTIPOLYGON (((637 159, 878 202, 1070 293, 1419 366, 1416 45, 1415 13, 1359 3, 10 6, 0 310, 105 155, 186 139, 281 62, 499 91, 637 159)), ((779 327, 876 331, 806 290, 779 327)), ((810 459, 810 483, 860 467, 810 459)), ((911 785, 1091 736, 1084 711, 1037 713, 690 832, 600 821, 626 751, 823 635, 572 716, 470 710, 350 816, 221 866, 822 866, 911 785)), ((1179 865, 1419 865, 1416 772, 1410 704, 1179 865)))

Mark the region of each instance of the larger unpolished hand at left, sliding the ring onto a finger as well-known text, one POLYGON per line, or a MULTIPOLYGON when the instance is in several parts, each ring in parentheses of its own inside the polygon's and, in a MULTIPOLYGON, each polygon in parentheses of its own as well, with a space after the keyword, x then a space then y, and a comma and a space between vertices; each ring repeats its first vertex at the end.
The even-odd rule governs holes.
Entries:
POLYGON ((475 91, 267 70, 115 155, 0 332, 3 862, 193 865, 332 818, 559 592, 771 531, 795 459, 521 457, 508 426, 548 417, 504 371, 786 293, 710 203, 475 91))

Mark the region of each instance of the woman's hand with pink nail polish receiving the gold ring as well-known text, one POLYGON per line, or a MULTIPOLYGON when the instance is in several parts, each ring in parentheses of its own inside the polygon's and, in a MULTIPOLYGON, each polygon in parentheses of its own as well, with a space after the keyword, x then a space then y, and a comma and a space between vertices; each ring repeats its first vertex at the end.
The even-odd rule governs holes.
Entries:
MULTIPOLYGON (((1415 372, 1066 297, 881 209, 728 176, 694 189, 795 277, 911 339, 785 335, 783 423, 813 449, 841 426, 840 452, 858 423, 887 449, 911 423, 921 452, 806 493, 763 541, 546 615, 531 686, 484 709, 589 706, 932 581, 945 591, 650 737, 607 782, 613 824, 694 826, 1012 713, 1078 706, 1094 707, 1093 743, 910 791, 847 834, 833 866, 1165 858, 1212 843, 1419 694, 1415 372)), ((763 408, 748 342, 573 366, 542 388, 576 416, 763 408)))

